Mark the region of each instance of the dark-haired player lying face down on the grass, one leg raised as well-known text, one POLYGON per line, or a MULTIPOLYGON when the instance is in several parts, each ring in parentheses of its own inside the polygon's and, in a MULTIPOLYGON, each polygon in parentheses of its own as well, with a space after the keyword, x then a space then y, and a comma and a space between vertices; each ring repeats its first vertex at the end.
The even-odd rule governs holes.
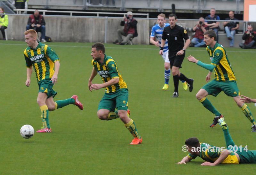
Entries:
POLYGON ((237 147, 232 140, 228 126, 224 118, 219 118, 218 122, 222 127, 227 148, 219 148, 212 146, 208 143, 200 143, 197 138, 192 137, 185 141, 188 146, 188 156, 177 164, 186 164, 197 156, 201 157, 207 162, 201 165, 215 166, 218 164, 255 164, 256 163, 256 150, 248 150, 247 147, 237 147), (196 150, 197 149, 197 150, 196 150))

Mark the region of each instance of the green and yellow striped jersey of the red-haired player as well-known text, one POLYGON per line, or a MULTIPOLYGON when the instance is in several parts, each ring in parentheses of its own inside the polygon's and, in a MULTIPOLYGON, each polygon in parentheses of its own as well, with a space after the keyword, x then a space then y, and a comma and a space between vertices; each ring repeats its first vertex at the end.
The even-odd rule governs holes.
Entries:
POLYGON ((57 54, 46 44, 38 43, 36 49, 28 47, 24 50, 26 67, 33 65, 37 82, 52 78, 53 67, 56 61, 60 61, 57 54))

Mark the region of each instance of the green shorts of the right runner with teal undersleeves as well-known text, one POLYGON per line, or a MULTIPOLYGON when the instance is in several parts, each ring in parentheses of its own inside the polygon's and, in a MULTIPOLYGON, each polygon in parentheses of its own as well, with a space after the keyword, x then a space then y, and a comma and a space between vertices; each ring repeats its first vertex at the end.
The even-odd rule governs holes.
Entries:
POLYGON ((217 96, 223 91, 226 95, 231 97, 236 97, 240 95, 238 87, 236 85, 236 81, 216 81, 212 80, 206 85, 202 87, 202 89, 206 90, 208 94, 217 96))

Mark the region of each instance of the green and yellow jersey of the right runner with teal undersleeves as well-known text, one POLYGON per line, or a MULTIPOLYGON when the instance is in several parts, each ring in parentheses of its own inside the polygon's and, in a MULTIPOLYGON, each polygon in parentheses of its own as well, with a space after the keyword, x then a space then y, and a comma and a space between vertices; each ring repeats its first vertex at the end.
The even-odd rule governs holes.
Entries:
POLYGON ((236 80, 235 74, 231 68, 228 60, 228 55, 225 48, 216 42, 215 46, 211 48, 206 47, 206 50, 211 59, 211 65, 215 65, 215 79, 217 81, 232 81, 236 80))

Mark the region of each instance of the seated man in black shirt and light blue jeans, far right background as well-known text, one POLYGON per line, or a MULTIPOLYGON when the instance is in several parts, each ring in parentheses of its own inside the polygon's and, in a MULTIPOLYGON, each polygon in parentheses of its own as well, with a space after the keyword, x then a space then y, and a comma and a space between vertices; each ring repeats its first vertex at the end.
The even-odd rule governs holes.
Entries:
POLYGON ((234 39, 235 34, 237 32, 237 29, 239 28, 239 22, 236 21, 238 19, 234 18, 234 11, 229 11, 228 13, 229 18, 226 18, 226 20, 231 20, 223 23, 224 29, 226 31, 228 40, 230 40, 230 47, 234 46, 234 39), (235 22, 236 21, 236 22, 235 22))

